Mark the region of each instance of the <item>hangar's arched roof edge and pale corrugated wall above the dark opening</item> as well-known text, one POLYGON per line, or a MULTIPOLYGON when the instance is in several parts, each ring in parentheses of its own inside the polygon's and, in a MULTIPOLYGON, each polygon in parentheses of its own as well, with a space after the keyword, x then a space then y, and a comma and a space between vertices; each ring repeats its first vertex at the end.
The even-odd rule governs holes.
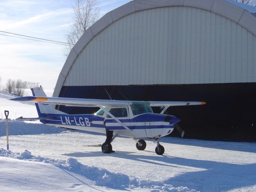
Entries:
POLYGON ((232 0, 134 0, 71 50, 62 86, 256 82, 256 17, 232 0))

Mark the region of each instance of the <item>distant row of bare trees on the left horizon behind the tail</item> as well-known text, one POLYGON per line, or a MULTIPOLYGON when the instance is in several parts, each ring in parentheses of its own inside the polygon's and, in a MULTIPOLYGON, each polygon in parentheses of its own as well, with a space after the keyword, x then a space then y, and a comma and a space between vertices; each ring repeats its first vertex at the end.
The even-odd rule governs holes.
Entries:
POLYGON ((2 77, 0 76, 0 90, 8 93, 13 93, 21 97, 24 95, 25 89, 30 89, 30 88, 39 86, 39 83, 22 81, 20 79, 17 79, 17 80, 8 79, 5 86, 1 86, 1 79, 2 77))

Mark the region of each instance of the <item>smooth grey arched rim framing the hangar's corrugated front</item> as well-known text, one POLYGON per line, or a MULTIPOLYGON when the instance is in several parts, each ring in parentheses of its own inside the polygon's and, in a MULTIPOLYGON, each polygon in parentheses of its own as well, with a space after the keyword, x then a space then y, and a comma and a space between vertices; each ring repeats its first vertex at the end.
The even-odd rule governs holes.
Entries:
POLYGON ((70 54, 60 72, 55 86, 53 96, 59 96, 60 90, 65 82, 70 68, 80 52, 86 45, 109 25, 122 17, 134 14, 135 12, 164 7, 192 7, 207 10, 220 16, 226 17, 236 24, 242 26, 256 36, 256 8, 240 4, 233 0, 134 0, 105 14, 100 20, 88 28, 70 54))

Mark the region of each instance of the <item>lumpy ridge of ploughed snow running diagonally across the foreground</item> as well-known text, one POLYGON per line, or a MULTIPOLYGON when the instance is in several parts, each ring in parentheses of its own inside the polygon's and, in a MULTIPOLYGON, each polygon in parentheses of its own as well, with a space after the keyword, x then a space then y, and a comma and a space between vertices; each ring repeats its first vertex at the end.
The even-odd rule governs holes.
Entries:
POLYGON ((67 160, 56 160, 47 157, 33 156, 28 150, 24 152, 12 152, 11 150, 5 150, 0 148, 0 157, 14 158, 18 160, 26 160, 32 162, 42 162, 57 166, 63 170, 74 172, 85 178, 92 180, 97 186, 106 186, 113 189, 124 190, 125 188, 135 189, 141 188, 145 190, 152 189, 154 191, 179 191, 179 192, 196 192, 196 190, 190 190, 187 187, 174 188, 172 185, 162 184, 160 182, 150 180, 140 180, 138 178, 129 177, 122 173, 109 172, 103 168, 97 168, 95 166, 87 166, 78 162, 75 158, 68 158, 67 160))

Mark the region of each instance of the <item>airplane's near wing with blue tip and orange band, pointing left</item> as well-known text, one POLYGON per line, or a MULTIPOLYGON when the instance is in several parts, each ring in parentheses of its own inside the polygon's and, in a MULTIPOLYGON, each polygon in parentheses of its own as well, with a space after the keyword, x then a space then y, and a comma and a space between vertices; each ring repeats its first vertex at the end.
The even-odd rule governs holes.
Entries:
POLYGON ((132 101, 103 100, 103 99, 82 99, 82 98, 62 98, 62 97, 19 97, 10 99, 13 101, 26 101, 44 104, 56 104, 65 106, 98 107, 98 106, 130 106, 132 101))

